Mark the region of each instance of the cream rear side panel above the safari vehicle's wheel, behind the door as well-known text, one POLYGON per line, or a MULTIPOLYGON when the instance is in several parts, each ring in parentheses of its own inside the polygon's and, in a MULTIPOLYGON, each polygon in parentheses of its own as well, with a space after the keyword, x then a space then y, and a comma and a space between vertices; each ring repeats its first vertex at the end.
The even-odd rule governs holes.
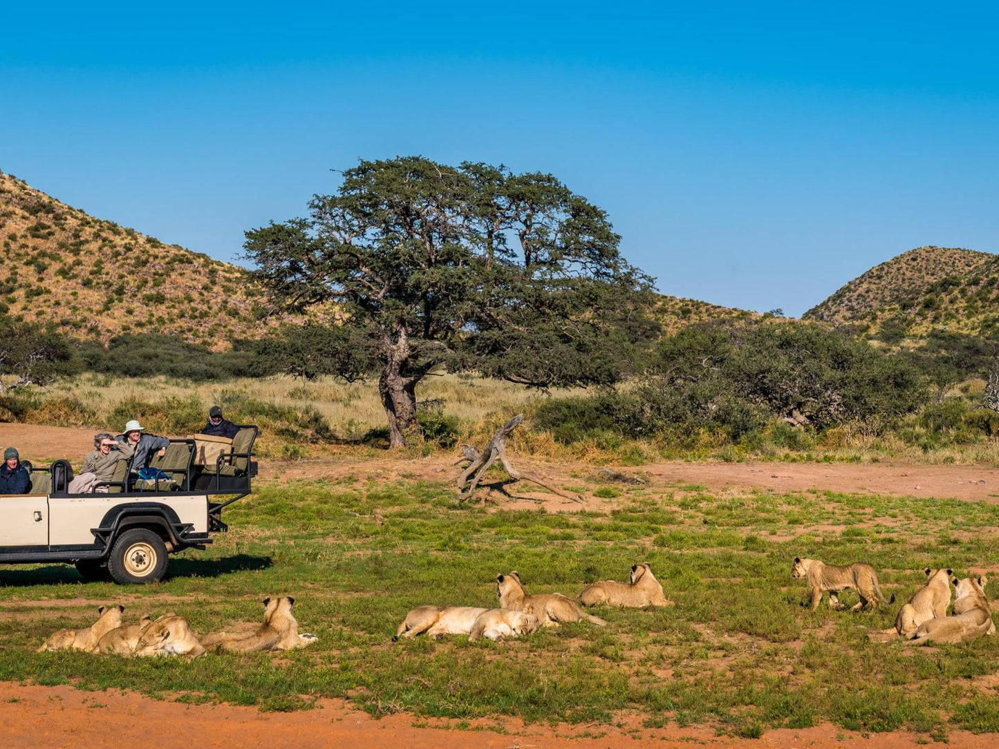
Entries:
MULTIPOLYGON (((44 498, 44 497, 43 497, 44 498)), ((94 542, 92 528, 101 527, 101 521, 113 507, 156 502, 171 507, 182 523, 194 525, 193 532, 208 532, 208 497, 204 494, 177 495, 148 493, 139 496, 121 494, 87 494, 86 496, 53 496, 49 498, 51 511, 49 543, 52 546, 70 546, 94 542)))

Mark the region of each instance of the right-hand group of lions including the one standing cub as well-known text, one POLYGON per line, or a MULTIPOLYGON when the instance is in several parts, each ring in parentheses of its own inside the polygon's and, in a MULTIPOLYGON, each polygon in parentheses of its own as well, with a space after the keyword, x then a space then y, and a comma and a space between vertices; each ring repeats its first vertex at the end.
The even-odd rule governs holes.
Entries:
MULTIPOLYGON (((884 634, 896 632, 915 644, 924 644, 962 642, 995 633, 992 609, 985 597, 985 585, 988 582, 985 575, 958 579, 952 569, 927 567, 923 571, 926 583, 899 609, 895 626, 883 630, 884 634), (954 605, 948 615, 947 608, 950 606, 952 593, 955 595, 954 605)), ((879 602, 895 602, 894 595, 891 600, 885 599, 874 568, 862 562, 835 565, 795 556, 791 565, 791 577, 808 581, 812 611, 818 608, 823 593, 829 594, 830 608, 845 608, 837 595, 848 588, 855 589, 860 595, 860 600, 851 609, 853 611, 868 604, 874 609, 879 602)))

